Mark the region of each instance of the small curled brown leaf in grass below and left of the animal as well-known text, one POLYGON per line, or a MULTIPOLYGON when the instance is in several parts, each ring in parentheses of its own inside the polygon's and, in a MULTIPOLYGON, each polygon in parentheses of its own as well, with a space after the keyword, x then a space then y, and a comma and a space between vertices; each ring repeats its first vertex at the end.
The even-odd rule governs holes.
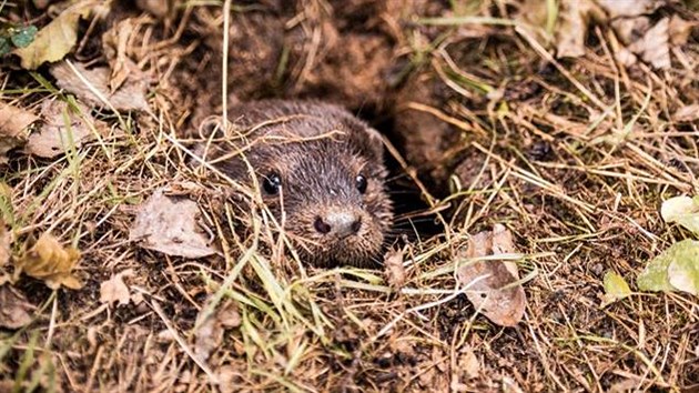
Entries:
POLYGON ((223 342, 223 332, 227 328, 237 328, 241 324, 241 316, 237 306, 232 301, 223 303, 216 312, 205 315, 207 310, 203 309, 197 319, 199 329, 194 333, 194 354, 202 361, 206 361, 211 353, 223 342))

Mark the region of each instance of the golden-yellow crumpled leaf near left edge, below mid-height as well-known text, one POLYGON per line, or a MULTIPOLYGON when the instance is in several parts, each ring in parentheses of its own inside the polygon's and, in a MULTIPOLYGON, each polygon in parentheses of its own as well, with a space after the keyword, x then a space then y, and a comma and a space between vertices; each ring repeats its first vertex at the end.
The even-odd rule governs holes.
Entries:
POLYGON ((17 262, 18 272, 42 280, 52 290, 61 285, 71 290, 79 290, 82 283, 72 274, 73 268, 80 261, 80 251, 64 248, 50 233, 43 233, 32 246, 17 262))

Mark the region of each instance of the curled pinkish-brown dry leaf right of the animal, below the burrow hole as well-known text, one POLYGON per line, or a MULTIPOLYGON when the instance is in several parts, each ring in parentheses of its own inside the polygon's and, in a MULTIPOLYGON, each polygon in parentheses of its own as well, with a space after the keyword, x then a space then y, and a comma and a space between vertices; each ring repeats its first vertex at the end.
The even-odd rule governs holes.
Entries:
POLYGON ((511 241, 509 231, 503 225, 495 225, 493 232, 485 231, 472 236, 468 249, 459 251, 459 256, 476 260, 466 263, 457 272, 459 283, 467 288, 466 296, 477 310, 500 326, 514 326, 521 321, 526 306, 524 289, 514 284, 517 276, 503 261, 477 259, 515 253, 511 241))

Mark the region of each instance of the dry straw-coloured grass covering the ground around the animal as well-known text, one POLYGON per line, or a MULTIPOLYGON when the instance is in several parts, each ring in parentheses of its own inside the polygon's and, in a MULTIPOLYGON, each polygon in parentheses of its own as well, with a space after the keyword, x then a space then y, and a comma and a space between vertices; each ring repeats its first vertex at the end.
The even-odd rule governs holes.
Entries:
MULTIPOLYGON (((196 10, 184 12, 181 29, 203 29, 189 19, 196 10)), ((197 23, 229 22, 216 19, 217 7, 202 12, 212 19, 197 23)), ((159 37, 156 21, 140 23, 159 37)), ((0 390, 648 391, 699 383, 696 298, 635 293, 600 308, 605 272, 635 289, 648 260, 689 236, 665 225, 658 206, 699 192, 699 128, 671 120, 699 98, 699 43, 675 48, 682 61, 669 71, 640 64, 630 73, 610 56, 601 28, 585 57, 560 63, 524 30, 479 23, 497 33, 459 40, 458 28, 445 28, 426 48, 409 40, 401 48, 416 54, 413 72, 435 75, 448 91, 439 108, 412 109, 463 132, 463 145, 449 152, 463 164, 449 192, 435 192, 397 157, 445 225, 405 244, 399 289, 382 271, 316 270, 285 256, 285 238, 254 191, 234 204, 230 179, 186 164, 180 131, 194 102, 172 70, 191 48, 176 39, 133 44, 131 54, 159 77, 152 114, 102 113, 123 133, 55 160, 16 154, 0 175, 12 188, 1 211, 13 252, 52 232, 82 251, 85 283, 55 292, 28 278, 13 284, 39 309, 28 326, 0 333, 0 390), (533 72, 544 63, 553 66, 533 72), (504 94, 497 107, 484 103, 493 90, 504 94), (128 241, 138 204, 165 184, 207 212, 220 256, 183 260, 128 241), (241 222, 247 231, 234 228, 241 222), (495 223, 515 233, 528 280, 525 320, 511 329, 476 314, 455 280, 456 251, 495 223), (125 270, 133 270, 125 279, 132 303, 100 303, 100 284, 125 270), (195 332, 231 304, 240 324, 207 360, 197 359, 195 332)), ((421 27, 405 29, 413 37, 421 27)), ((317 50, 311 44, 308 59, 317 50)), ((67 99, 49 81, 18 74, 2 77, 3 100, 34 107, 67 99)))

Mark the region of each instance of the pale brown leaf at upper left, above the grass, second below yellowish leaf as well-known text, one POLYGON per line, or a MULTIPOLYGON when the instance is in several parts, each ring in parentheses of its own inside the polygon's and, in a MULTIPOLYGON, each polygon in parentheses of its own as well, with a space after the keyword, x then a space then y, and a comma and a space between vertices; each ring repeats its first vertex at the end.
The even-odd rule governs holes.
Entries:
POLYGON ((78 104, 74 110, 59 100, 44 101, 41 118, 43 125, 29 135, 24 151, 47 159, 65 153, 71 145, 80 148, 94 137, 92 128, 101 133, 107 129, 103 122, 92 118, 85 105, 78 104))

